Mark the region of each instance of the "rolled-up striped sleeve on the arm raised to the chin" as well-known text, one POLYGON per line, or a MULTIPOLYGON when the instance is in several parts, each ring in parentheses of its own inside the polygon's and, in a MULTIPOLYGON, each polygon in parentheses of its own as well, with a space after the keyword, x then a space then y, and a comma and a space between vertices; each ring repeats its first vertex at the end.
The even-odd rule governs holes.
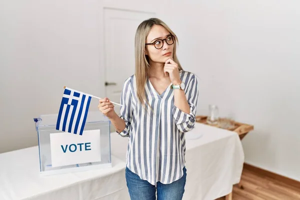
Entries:
POLYGON ((175 105, 172 109, 174 122, 181 132, 191 130, 195 124, 198 103, 198 81, 194 74, 191 76, 190 81, 187 84, 185 96, 189 104, 189 113, 181 111, 175 105))

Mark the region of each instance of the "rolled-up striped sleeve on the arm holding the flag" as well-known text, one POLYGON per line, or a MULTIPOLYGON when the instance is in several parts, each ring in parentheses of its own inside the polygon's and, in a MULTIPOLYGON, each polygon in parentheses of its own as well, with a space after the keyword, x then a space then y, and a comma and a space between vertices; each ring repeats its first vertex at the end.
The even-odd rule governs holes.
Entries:
POLYGON ((131 81, 126 79, 123 83, 123 88, 120 97, 120 117, 125 121, 125 128, 121 132, 116 131, 119 135, 129 136, 130 122, 132 118, 132 103, 131 103, 131 81))

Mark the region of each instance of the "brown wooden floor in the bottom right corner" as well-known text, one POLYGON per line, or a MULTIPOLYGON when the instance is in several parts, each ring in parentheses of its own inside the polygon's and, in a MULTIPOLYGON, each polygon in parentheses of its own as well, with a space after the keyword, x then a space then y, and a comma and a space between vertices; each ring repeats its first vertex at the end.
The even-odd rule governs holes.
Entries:
MULTIPOLYGON (((243 169, 240 183, 243 188, 239 188, 237 185, 233 186, 233 200, 300 199, 300 188, 297 187, 298 185, 288 184, 249 169, 243 169)), ((217 200, 223 199, 225 197, 217 200)))

